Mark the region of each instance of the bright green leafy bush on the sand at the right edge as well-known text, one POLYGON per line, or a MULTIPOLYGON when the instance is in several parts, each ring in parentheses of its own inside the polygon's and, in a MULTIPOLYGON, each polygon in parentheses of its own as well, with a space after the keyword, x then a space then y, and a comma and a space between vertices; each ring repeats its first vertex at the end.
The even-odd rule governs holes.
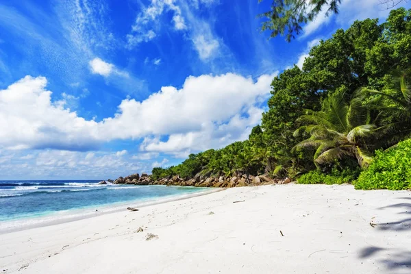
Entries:
POLYGON ((355 182, 357 189, 401 190, 411 188, 411 139, 386 151, 376 151, 375 159, 355 182))

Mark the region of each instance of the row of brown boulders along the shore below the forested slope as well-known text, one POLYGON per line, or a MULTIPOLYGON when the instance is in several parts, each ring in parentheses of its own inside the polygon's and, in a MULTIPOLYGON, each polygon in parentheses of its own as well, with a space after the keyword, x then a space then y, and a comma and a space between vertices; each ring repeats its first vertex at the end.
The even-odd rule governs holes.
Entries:
POLYGON ((132 174, 127 177, 119 177, 114 180, 113 184, 134 184, 137 186, 160 184, 166 186, 197 186, 197 187, 214 187, 214 188, 234 188, 236 186, 263 186, 269 184, 288 184, 291 180, 272 179, 267 174, 258 176, 247 175, 242 173, 234 173, 232 177, 213 176, 210 174, 198 173, 192 178, 182 178, 179 175, 168 176, 158 180, 151 179, 150 175, 142 173, 142 175, 132 174))

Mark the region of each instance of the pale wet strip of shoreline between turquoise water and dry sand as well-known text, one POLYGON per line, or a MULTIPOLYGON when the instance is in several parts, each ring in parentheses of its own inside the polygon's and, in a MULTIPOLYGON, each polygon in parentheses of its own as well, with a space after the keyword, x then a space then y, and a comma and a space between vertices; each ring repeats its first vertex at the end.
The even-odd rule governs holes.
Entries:
MULTIPOLYGON (((174 187, 174 186, 164 186, 174 187)), ((86 208, 72 208, 69 210, 62 210, 51 212, 49 214, 41 216, 27 216, 17 219, 5 220, 0 223, 0 235, 8 234, 12 232, 20 232, 27 229, 34 229, 38 227, 47 227, 50 225, 59 225, 62 223, 69 223, 73 221, 79 221, 84 219, 95 218, 105 214, 112 214, 116 212, 127 211, 127 206, 144 208, 147 206, 155 206, 161 203, 169 203, 171 201, 179 201, 184 199, 190 199, 192 197, 198 197, 202 195, 208 195, 213 192, 219 192, 225 190, 225 188, 207 188, 203 191, 183 194, 183 195, 171 195, 171 197, 160 197, 158 199, 147 200, 132 200, 132 201, 119 201, 116 203, 107 203, 104 205, 87 206, 86 208), (96 210, 96 211, 93 211, 96 210), (97 211, 98 210, 98 211, 97 211)))

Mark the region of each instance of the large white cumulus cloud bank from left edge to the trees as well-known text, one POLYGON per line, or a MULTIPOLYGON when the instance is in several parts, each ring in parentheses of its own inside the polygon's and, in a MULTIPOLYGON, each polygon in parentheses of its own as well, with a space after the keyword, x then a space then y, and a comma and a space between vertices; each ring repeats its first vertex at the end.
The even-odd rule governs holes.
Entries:
POLYGON ((182 88, 164 86, 144 101, 124 99, 114 116, 97 123, 51 101, 45 77, 26 76, 0 90, 0 126, 8 129, 0 132, 0 145, 86 151, 110 140, 148 137, 142 150, 175 152, 226 144, 245 138, 259 122, 258 105, 269 96, 272 79, 191 76, 182 88), (169 140, 160 142, 160 136, 169 140))

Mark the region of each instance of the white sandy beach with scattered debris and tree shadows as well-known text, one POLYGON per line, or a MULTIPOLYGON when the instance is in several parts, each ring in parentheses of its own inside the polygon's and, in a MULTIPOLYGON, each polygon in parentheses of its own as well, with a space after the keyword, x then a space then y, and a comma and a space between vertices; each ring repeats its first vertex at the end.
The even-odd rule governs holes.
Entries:
POLYGON ((0 247, 3 273, 411 273, 411 192, 229 188, 1 234, 0 247))

